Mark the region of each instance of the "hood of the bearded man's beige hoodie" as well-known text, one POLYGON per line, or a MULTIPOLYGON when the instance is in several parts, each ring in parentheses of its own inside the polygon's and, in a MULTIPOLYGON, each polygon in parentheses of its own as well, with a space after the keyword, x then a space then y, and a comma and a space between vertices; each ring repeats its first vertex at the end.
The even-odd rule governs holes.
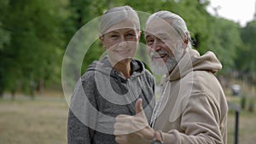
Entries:
POLYGON ((218 72, 222 68, 216 55, 208 51, 205 55, 200 55, 195 49, 189 49, 182 59, 178 61, 177 66, 166 78, 171 81, 183 78, 192 71, 218 72))

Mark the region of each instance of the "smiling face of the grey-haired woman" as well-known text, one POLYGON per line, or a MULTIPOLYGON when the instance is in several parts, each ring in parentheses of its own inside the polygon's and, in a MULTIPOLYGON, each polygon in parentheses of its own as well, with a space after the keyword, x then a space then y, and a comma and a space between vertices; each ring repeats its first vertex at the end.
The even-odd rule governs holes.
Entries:
POLYGON ((130 59, 136 55, 140 31, 130 21, 125 20, 110 27, 100 39, 107 49, 112 63, 130 59))

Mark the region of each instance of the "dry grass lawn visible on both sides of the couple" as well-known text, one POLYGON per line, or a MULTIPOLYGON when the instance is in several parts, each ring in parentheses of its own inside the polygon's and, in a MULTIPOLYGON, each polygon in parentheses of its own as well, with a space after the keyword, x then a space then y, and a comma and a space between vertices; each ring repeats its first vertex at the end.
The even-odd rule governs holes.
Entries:
MULTIPOLYGON (((67 102, 63 97, 27 97, 0 100, 1 144, 66 144, 67 102)), ((240 113, 239 144, 256 141, 255 112, 240 113)), ((228 143, 234 143, 235 112, 230 111, 228 143)))

